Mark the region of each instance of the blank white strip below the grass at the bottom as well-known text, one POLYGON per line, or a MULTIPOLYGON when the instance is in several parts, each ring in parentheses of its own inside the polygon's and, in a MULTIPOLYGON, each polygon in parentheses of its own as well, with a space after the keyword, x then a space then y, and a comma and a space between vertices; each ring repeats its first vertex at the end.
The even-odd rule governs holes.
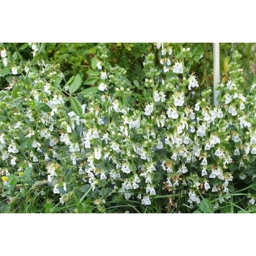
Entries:
POLYGON ((253 214, 2 214, 1 255, 253 255, 253 214))

